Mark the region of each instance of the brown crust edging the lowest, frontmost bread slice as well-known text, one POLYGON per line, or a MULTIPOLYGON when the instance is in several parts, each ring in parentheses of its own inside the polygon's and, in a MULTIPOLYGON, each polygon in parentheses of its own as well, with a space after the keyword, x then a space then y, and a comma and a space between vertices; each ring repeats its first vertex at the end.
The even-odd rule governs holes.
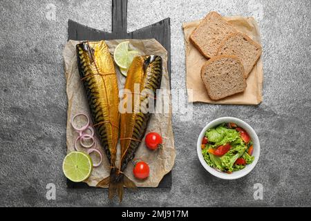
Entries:
POLYGON ((209 64, 211 64, 213 61, 217 61, 217 60, 223 59, 223 58, 235 59, 236 61, 238 61, 239 64, 241 64, 241 67, 243 68, 243 81, 244 81, 243 84, 244 84, 244 90, 245 90, 245 88, 246 88, 246 86, 247 86, 247 84, 246 84, 246 78, 245 78, 245 70, 244 70, 244 66, 243 66, 243 64, 242 64, 241 59, 239 59, 238 57, 236 57, 236 56, 234 56, 234 55, 218 55, 218 56, 216 56, 216 57, 212 57, 211 59, 209 59, 208 61, 206 61, 205 64, 202 66, 201 72, 200 72, 200 76, 201 76, 201 79, 202 79, 203 84, 205 85, 205 88, 207 89, 207 94, 209 95, 209 97, 210 97, 211 99, 214 99, 214 100, 223 99, 223 98, 225 98, 225 97, 227 97, 227 96, 225 96, 225 97, 213 97, 213 95, 211 95, 211 94, 209 93, 209 92, 210 92, 209 84, 206 84, 206 83, 205 83, 205 80, 203 79, 203 75, 204 75, 204 73, 205 73, 205 68, 206 68, 207 66, 209 66, 209 64))

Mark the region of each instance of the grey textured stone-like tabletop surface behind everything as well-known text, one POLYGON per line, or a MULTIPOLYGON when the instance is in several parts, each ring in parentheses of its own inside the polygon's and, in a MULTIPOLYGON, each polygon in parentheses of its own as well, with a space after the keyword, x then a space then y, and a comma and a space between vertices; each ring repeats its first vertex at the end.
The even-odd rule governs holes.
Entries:
MULTIPOLYGON (((265 82, 259 106, 194 105, 173 116, 177 157, 171 189, 126 191, 120 206, 311 206, 311 3, 305 1, 133 1, 129 31, 171 17, 172 88, 185 88, 182 22, 216 10, 254 16, 263 38, 265 82), (216 117, 245 119, 258 133, 256 169, 236 181, 209 175, 196 137, 216 117), (253 186, 263 184, 263 200, 253 186)), ((66 189, 66 92, 62 49, 67 21, 111 30, 110 1, 0 1, 0 206, 118 206, 102 189, 66 189), (48 3, 56 20, 46 18, 48 3), (56 200, 46 200, 46 184, 56 200)))

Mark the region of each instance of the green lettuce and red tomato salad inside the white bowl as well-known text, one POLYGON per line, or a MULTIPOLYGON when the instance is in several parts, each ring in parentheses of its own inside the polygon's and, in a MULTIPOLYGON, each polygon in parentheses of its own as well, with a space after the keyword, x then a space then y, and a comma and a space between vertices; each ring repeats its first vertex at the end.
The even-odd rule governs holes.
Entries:
POLYGON ((225 173, 241 171, 255 159, 251 137, 234 123, 209 128, 202 138, 201 148, 207 165, 225 173))

